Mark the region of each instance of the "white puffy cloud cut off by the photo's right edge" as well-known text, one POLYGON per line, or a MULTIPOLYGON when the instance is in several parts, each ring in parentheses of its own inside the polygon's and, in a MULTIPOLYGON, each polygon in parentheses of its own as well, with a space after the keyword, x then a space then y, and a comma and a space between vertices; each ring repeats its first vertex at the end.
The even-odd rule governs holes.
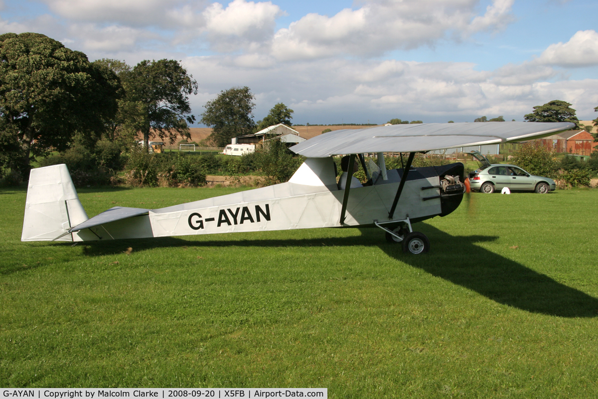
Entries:
POLYGON ((579 31, 566 43, 551 44, 537 62, 569 67, 598 65, 598 33, 579 31))

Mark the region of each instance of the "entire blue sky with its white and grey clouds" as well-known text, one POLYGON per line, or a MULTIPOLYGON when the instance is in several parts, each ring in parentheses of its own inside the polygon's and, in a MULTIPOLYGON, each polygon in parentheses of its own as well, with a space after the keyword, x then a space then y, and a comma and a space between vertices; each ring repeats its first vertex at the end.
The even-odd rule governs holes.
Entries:
POLYGON ((597 16, 596 0, 0 0, 0 33, 178 60, 197 120, 243 86, 256 121, 279 102, 296 124, 523 121, 550 100, 593 120, 597 16))

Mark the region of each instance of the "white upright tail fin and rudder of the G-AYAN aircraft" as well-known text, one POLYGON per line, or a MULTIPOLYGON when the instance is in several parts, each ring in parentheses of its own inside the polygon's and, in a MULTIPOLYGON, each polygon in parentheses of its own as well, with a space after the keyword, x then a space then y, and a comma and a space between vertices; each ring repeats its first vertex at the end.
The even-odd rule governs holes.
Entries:
POLYGON ((22 241, 72 241, 68 230, 87 219, 66 165, 31 169, 22 241))

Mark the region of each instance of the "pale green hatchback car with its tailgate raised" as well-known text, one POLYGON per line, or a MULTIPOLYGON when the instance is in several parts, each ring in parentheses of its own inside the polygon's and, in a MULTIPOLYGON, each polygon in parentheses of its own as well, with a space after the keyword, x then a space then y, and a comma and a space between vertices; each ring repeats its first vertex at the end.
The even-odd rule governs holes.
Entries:
POLYGON ((496 190, 501 191, 502 188, 508 187, 511 191, 535 191, 545 194, 556 188, 553 179, 530 175, 515 165, 502 163, 491 165, 489 160, 478 151, 472 151, 471 155, 481 163, 480 168, 469 173, 471 190, 492 194, 496 190))

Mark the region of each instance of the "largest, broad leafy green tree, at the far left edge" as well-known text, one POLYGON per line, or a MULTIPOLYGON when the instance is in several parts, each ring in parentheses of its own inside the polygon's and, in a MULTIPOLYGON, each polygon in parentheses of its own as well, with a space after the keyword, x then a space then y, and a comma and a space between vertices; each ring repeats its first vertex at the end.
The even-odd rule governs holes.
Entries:
POLYGON ((120 90, 114 72, 54 39, 0 35, 0 129, 2 147, 13 150, 11 169, 25 172, 30 157, 50 147, 65 150, 75 133, 93 144, 114 117, 120 90))

